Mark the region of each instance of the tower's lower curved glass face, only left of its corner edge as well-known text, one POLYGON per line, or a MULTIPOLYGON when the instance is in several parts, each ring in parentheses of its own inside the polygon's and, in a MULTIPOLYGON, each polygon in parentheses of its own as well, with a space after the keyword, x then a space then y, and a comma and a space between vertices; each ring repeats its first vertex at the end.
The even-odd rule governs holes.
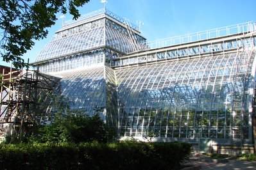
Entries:
POLYGON ((83 109, 92 114, 94 105, 106 105, 104 66, 56 75, 62 77, 56 92, 65 98, 70 109, 83 109))

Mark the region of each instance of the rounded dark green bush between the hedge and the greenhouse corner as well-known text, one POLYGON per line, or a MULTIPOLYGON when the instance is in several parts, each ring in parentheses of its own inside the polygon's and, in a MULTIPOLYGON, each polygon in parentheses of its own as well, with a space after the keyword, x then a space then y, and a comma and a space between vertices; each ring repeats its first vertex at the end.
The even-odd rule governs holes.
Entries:
POLYGON ((98 141, 107 143, 114 139, 114 130, 108 127, 98 114, 87 116, 83 112, 68 112, 58 116, 54 123, 41 127, 32 137, 39 143, 81 143, 98 141))

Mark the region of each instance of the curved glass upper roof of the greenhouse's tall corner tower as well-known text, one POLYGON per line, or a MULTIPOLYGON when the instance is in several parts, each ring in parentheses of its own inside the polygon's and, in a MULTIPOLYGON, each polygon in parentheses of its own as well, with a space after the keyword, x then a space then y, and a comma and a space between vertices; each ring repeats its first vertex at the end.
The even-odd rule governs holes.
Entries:
POLYGON ((35 62, 104 47, 127 54, 146 49, 145 41, 133 24, 107 9, 99 10, 81 17, 73 24, 66 23, 40 51, 35 62))

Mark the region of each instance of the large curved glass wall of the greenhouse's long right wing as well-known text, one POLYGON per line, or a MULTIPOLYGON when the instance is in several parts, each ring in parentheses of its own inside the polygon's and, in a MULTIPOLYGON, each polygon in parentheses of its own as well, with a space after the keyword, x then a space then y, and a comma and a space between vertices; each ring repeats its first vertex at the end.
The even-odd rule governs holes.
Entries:
POLYGON ((120 135, 249 139, 254 58, 255 50, 117 70, 120 135))

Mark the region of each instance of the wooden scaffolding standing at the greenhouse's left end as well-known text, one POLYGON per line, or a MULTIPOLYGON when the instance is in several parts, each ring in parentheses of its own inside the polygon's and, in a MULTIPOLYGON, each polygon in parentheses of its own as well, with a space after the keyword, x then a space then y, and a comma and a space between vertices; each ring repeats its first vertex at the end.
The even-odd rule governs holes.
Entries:
MULTIPOLYGON (((49 116, 38 107, 52 93, 56 77, 38 70, 18 70, 2 74, 0 93, 0 141, 10 142, 30 135, 31 129, 49 116)), ((41 106, 40 106, 41 107, 41 106)))

